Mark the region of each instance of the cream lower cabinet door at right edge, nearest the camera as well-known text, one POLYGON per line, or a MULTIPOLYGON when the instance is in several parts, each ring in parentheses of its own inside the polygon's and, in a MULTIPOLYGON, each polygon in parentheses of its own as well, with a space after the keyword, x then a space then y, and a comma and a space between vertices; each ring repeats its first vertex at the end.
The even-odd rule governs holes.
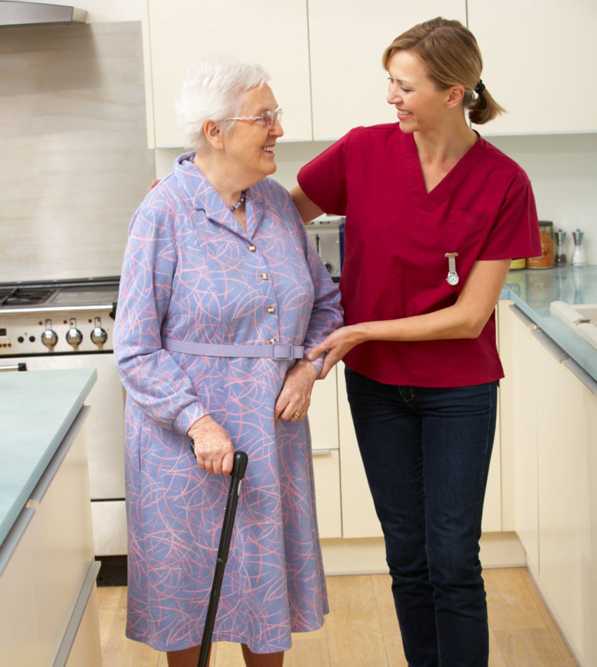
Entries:
POLYGON ((596 395, 564 363, 537 345, 537 441, 539 468, 539 577, 543 597, 582 665, 591 656, 595 617, 591 573, 589 451, 587 406, 596 395))

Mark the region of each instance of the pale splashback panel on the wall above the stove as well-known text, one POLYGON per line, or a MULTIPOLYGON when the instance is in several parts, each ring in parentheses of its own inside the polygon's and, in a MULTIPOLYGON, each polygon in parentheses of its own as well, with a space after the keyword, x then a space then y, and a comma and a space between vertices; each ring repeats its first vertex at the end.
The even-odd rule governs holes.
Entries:
POLYGON ((141 23, 0 30, 0 282, 119 275, 154 178, 141 23))

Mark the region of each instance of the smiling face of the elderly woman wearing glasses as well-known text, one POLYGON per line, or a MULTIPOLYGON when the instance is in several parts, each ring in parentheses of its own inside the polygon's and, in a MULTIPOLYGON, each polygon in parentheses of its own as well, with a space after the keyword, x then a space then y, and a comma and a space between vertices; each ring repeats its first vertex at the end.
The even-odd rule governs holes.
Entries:
MULTIPOLYGON (((276 111, 276 98, 271 88, 264 84, 245 93, 241 116, 260 116, 265 111, 276 111)), ((243 173, 254 183, 276 171, 274 147, 284 133, 278 117, 274 124, 263 127, 260 121, 237 120, 224 139, 224 149, 229 157, 241 166, 243 173)))

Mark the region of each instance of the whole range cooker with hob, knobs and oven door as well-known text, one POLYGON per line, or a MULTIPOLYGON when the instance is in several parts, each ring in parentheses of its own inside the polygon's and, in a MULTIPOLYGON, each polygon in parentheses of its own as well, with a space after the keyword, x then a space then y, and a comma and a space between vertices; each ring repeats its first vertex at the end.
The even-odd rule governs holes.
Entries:
POLYGON ((98 371, 86 422, 98 556, 126 554, 125 392, 112 346, 118 288, 118 277, 0 284, 0 371, 98 371))

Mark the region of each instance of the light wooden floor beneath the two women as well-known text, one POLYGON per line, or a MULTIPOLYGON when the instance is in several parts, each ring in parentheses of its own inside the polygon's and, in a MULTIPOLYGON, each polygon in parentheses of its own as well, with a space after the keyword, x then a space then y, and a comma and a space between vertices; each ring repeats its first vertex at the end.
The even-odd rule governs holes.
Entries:
MULTIPOLYGON (((490 667, 572 667, 575 660, 526 569, 483 572, 490 667)), ((331 613, 314 633, 293 635, 284 667, 407 667, 384 574, 328 577, 331 613)), ((98 588, 103 667, 167 667, 166 654, 125 638, 126 588, 98 588)), ((211 667, 244 667, 239 645, 213 647, 211 667)))

